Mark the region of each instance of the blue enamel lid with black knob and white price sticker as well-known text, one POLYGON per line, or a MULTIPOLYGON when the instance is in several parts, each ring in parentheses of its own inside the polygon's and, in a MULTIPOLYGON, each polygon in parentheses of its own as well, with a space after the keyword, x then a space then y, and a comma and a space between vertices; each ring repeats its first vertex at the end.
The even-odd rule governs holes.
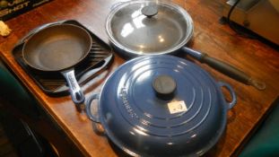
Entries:
POLYGON ((200 155, 222 134, 224 104, 214 79, 199 66, 179 57, 144 56, 109 76, 99 114, 112 142, 133 156, 200 155))

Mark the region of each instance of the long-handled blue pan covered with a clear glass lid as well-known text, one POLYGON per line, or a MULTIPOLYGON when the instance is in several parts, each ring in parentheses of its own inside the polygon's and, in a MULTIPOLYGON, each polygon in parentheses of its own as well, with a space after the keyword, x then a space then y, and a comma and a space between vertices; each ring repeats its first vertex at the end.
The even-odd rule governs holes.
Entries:
POLYGON ((125 57, 185 52, 201 63, 231 78, 265 89, 250 75, 207 54, 187 48, 194 24, 190 15, 177 4, 153 0, 135 0, 115 4, 106 22, 112 45, 125 57))

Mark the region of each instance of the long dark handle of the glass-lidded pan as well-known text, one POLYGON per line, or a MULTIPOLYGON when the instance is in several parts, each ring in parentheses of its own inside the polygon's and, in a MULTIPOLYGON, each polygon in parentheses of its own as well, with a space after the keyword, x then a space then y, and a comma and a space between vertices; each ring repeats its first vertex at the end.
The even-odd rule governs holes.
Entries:
POLYGON ((231 78, 239 81, 240 83, 252 85, 256 87, 257 90, 266 89, 265 83, 253 79, 250 75, 245 74, 244 72, 232 65, 222 62, 221 60, 218 60, 214 57, 209 57, 207 54, 196 51, 191 48, 184 47, 182 48, 182 50, 191 57, 195 57, 201 63, 205 63, 206 65, 213 67, 215 70, 221 72, 222 74, 230 76, 231 78))

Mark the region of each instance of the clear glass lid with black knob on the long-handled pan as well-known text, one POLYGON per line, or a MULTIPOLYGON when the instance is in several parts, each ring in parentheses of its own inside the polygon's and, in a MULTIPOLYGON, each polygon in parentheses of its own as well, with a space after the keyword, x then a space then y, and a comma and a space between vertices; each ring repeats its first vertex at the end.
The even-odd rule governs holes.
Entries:
POLYGON ((109 40, 126 52, 166 54, 187 43, 193 22, 177 4, 135 0, 117 4, 109 13, 106 30, 109 40))

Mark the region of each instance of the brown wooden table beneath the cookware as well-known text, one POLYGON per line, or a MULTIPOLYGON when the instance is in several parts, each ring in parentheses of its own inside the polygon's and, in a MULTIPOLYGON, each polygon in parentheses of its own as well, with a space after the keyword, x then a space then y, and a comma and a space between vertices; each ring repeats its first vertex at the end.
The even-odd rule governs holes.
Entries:
MULTIPOLYGON (((54 0, 24 13, 6 23, 13 30, 6 38, 0 37, 0 51, 4 62, 22 83, 39 100, 41 107, 53 118, 84 156, 117 156, 105 136, 93 132, 92 122, 84 113, 77 112, 70 96, 53 98, 39 89, 31 77, 14 60, 11 50, 14 44, 35 27, 59 20, 73 19, 81 22, 100 39, 109 43, 105 32, 105 19, 116 0, 54 0)), ((187 9, 195 24, 194 39, 189 47, 205 51, 212 57, 235 65, 247 74, 266 82, 265 91, 236 82, 214 71, 207 65, 205 70, 216 80, 230 83, 238 95, 237 105, 228 112, 227 129, 209 155, 231 156, 238 153, 254 128, 272 109, 279 93, 279 53, 275 47, 257 39, 238 36, 228 25, 219 23, 222 4, 219 0, 176 0, 187 9)), ((103 81, 125 60, 115 53, 109 70, 83 86, 85 96, 100 91, 103 81)), ((199 64, 199 63, 197 63, 199 64)))

